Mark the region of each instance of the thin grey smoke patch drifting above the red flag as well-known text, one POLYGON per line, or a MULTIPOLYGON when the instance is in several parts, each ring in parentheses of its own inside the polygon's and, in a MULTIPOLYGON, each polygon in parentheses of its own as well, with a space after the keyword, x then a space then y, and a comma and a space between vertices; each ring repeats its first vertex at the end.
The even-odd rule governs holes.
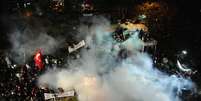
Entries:
POLYGON ((18 63, 24 63, 35 54, 38 49, 42 53, 49 54, 59 47, 63 42, 62 38, 53 38, 45 31, 37 31, 34 28, 27 27, 23 31, 15 31, 10 34, 12 58, 18 63))

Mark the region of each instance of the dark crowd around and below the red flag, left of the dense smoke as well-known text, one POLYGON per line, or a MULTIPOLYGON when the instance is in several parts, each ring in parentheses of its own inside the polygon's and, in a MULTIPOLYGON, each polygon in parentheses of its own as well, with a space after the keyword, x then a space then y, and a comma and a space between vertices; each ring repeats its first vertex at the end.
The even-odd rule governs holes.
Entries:
MULTIPOLYGON (((37 85, 38 77, 46 68, 39 70, 34 61, 29 64, 9 64, 8 57, 0 56, 0 100, 1 101, 44 101, 45 92, 37 85)), ((49 65, 48 65, 49 66, 49 65)))

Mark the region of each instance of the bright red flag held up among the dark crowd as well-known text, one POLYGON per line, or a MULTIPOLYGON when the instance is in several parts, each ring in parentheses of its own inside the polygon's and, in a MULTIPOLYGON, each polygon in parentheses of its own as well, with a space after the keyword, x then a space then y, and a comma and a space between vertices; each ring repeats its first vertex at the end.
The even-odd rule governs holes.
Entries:
POLYGON ((34 61, 35 61, 35 66, 37 67, 37 69, 41 70, 44 68, 44 64, 43 64, 43 57, 42 57, 42 53, 41 50, 38 50, 36 52, 36 55, 34 56, 34 61))

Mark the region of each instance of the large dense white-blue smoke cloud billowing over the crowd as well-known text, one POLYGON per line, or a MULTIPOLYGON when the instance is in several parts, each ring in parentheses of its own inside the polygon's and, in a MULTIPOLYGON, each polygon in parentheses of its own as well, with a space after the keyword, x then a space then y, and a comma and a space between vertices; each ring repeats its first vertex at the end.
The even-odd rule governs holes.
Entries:
POLYGON ((181 90, 194 87, 190 79, 154 68, 152 59, 138 51, 143 42, 137 32, 128 43, 119 44, 106 30, 111 27, 108 20, 96 17, 92 23, 82 25, 78 34, 86 36, 90 49, 82 49, 81 58, 66 69, 47 71, 39 78, 39 86, 75 89, 79 101, 180 101, 181 90), (130 56, 118 60, 118 47, 128 49, 130 56))

